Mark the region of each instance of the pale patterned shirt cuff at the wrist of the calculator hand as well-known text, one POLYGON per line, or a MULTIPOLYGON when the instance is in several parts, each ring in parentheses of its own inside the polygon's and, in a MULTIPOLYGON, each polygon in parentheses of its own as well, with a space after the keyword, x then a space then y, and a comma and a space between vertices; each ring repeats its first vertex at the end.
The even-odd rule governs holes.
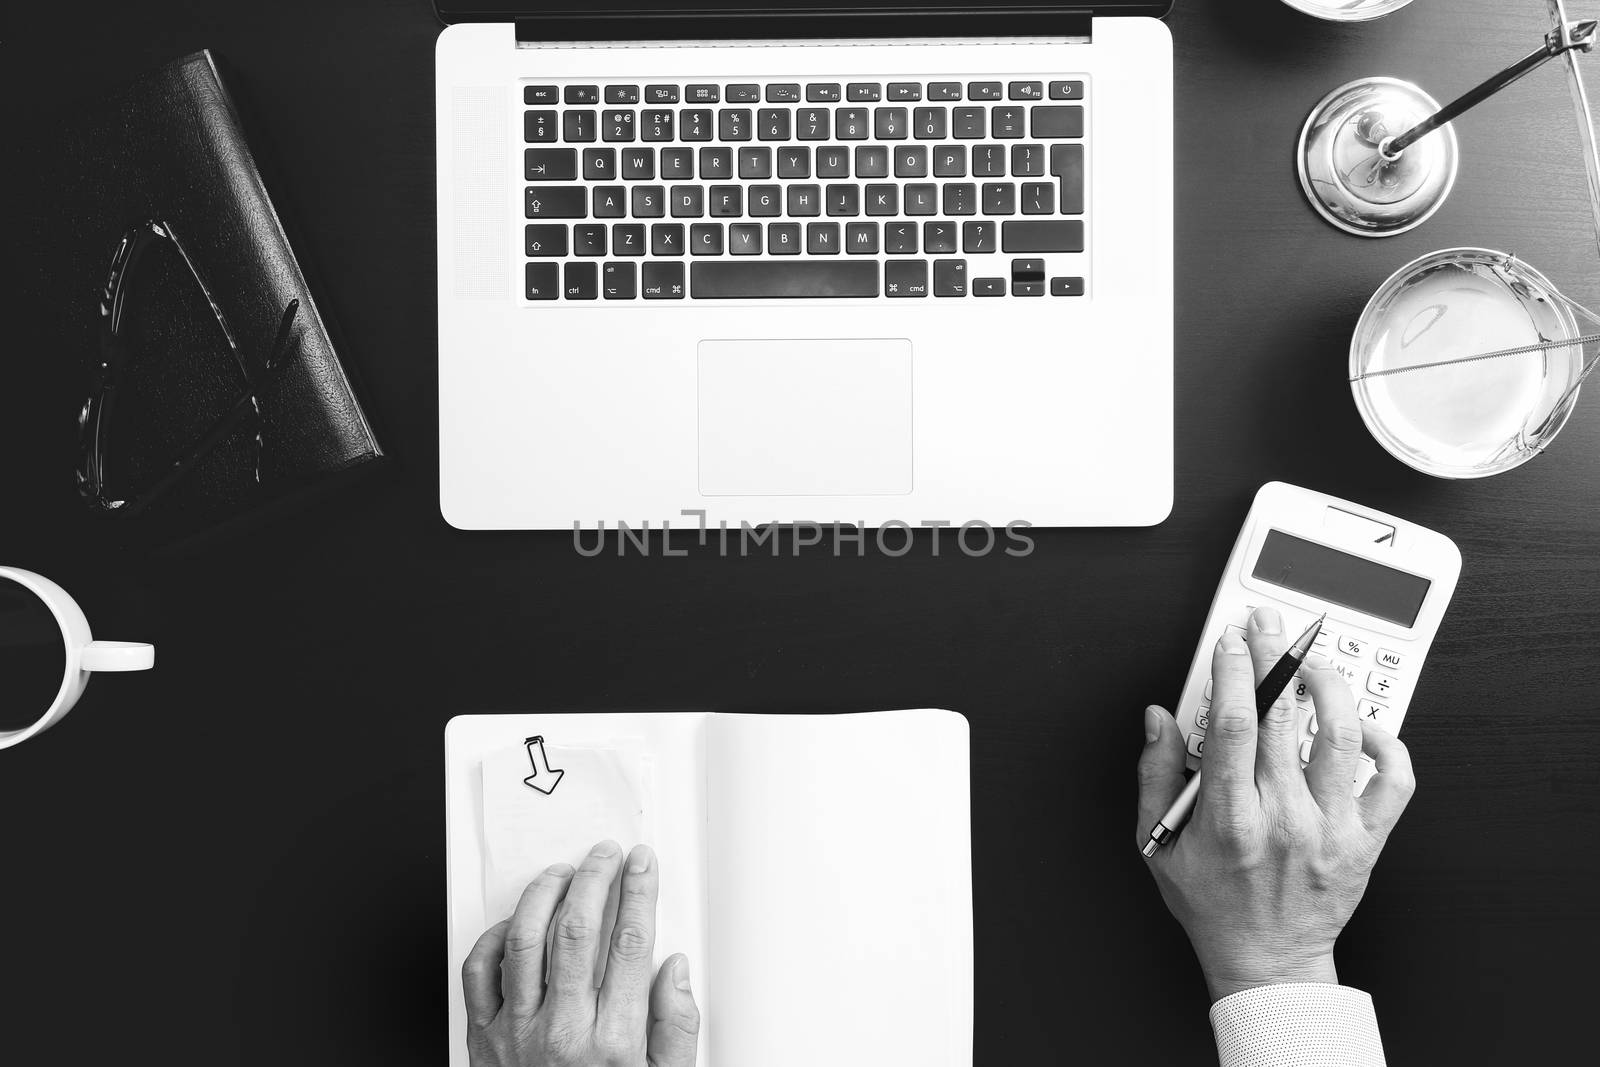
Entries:
POLYGON ((1258 985, 1211 1005, 1221 1067, 1384 1067, 1373 998, 1347 985, 1258 985))

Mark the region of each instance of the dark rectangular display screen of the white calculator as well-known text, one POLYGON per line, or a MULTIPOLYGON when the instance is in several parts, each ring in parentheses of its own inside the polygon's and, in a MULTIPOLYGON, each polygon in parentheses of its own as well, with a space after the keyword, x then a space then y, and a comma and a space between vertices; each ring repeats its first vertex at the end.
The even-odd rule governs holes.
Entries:
POLYGON ((1282 530, 1267 531, 1251 574, 1264 582, 1342 608, 1355 608, 1400 625, 1416 624, 1427 590, 1434 585, 1426 577, 1282 530))

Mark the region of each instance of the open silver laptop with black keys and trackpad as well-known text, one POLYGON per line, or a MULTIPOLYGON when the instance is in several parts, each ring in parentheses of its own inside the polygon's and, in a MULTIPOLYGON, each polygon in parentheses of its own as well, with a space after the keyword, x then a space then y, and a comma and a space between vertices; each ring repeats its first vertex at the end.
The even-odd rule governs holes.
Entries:
POLYGON ((462 530, 1141 526, 1170 0, 437 0, 462 530))

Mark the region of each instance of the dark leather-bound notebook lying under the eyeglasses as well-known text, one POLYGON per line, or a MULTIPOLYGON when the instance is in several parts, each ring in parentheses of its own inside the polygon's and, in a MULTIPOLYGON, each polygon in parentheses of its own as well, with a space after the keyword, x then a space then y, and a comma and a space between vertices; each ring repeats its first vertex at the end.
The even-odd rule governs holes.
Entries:
POLYGON ((78 115, 40 152, 35 219, 82 370, 77 470, 59 462, 85 514, 170 545, 370 469, 382 450, 211 53, 78 115))

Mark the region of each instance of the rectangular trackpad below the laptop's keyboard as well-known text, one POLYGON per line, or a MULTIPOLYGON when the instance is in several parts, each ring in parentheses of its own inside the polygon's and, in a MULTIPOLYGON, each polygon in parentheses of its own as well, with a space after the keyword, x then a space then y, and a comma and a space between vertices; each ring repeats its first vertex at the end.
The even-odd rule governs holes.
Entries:
POLYGON ((910 341, 701 341, 699 486, 910 493, 910 341))

